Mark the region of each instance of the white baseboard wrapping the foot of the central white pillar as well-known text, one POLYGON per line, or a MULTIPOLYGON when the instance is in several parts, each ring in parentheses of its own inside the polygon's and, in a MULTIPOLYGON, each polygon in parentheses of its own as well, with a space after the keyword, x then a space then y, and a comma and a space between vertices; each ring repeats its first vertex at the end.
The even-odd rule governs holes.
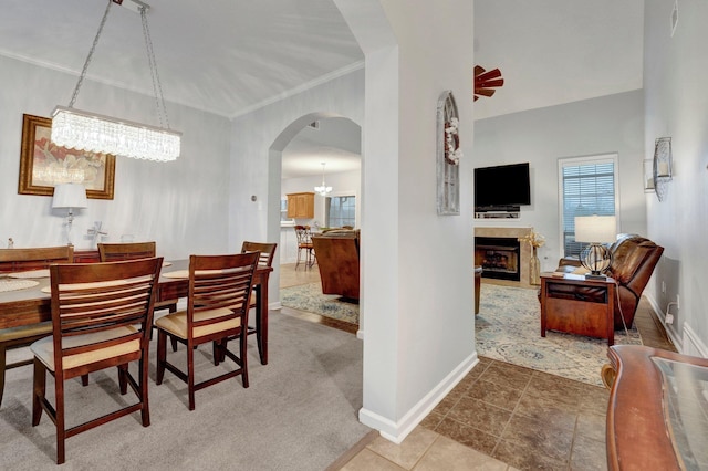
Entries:
POLYGON ((400 443, 478 363, 479 358, 475 350, 398 421, 393 421, 364 407, 358 411, 358 420, 378 430, 386 440, 400 443))

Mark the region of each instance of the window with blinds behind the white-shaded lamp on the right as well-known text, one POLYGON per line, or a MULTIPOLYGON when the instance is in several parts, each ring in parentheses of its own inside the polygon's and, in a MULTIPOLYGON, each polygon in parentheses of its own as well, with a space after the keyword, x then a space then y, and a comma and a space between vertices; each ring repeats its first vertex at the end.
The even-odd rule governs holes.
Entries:
POLYGON ((616 169, 616 154, 559 159, 563 257, 577 257, 587 245, 575 242, 576 216, 615 214, 616 169))

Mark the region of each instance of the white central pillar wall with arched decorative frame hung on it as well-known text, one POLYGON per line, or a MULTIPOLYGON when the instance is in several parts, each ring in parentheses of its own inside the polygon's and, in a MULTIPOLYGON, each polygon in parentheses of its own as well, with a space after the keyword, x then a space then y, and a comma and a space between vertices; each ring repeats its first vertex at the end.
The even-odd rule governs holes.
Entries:
POLYGON ((335 3, 366 56, 360 418, 399 441, 476 362, 472 3, 335 3), (468 157, 460 164, 462 213, 439 217, 436 104, 446 90, 457 96, 468 157))

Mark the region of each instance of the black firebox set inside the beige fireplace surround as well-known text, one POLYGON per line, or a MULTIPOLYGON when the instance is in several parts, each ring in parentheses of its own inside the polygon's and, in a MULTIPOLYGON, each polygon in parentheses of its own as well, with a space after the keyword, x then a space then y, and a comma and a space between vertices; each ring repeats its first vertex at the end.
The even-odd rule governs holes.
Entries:
POLYGON ((483 278, 521 280, 521 244, 516 238, 475 238, 475 265, 482 268, 483 278))

